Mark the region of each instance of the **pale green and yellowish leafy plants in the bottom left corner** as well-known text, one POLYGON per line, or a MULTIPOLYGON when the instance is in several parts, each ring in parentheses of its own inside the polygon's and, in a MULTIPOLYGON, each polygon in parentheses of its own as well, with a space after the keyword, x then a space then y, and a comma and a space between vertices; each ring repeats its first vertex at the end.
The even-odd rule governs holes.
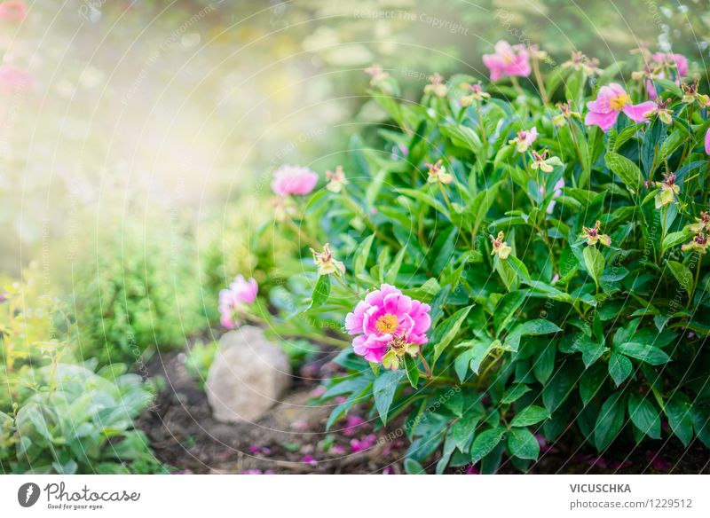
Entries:
POLYGON ((73 364, 75 330, 36 268, 0 304, 0 471, 126 473, 163 470, 133 419, 153 400, 137 374, 97 360, 73 364))

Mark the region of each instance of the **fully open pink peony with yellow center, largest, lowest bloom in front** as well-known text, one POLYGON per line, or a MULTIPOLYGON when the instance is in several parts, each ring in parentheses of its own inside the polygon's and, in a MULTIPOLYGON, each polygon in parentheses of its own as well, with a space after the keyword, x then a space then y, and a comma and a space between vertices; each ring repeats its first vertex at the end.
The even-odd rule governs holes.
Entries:
POLYGON ((348 313, 345 328, 349 334, 357 335, 352 341, 355 353, 379 363, 388 350, 398 353, 404 349, 415 354, 419 345, 429 341, 426 335, 431 326, 429 311, 428 304, 411 299, 395 286, 383 284, 348 313))

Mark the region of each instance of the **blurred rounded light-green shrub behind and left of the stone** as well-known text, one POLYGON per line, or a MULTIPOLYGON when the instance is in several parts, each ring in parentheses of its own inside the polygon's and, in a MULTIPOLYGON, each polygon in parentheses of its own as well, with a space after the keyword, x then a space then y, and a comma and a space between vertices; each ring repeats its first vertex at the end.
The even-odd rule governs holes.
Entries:
POLYGON ((166 238, 162 224, 154 224, 154 231, 127 223, 122 232, 100 234, 93 254, 77 266, 82 357, 133 363, 155 349, 184 347, 206 326, 195 247, 182 232, 166 238))

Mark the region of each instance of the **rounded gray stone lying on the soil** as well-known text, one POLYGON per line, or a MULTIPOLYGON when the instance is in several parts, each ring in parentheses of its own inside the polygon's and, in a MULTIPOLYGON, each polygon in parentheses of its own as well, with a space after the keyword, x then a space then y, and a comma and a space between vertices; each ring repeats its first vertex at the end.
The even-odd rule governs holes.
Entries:
POLYGON ((212 414, 223 422, 259 419, 291 382, 288 357, 254 326, 230 331, 219 342, 205 384, 212 414))

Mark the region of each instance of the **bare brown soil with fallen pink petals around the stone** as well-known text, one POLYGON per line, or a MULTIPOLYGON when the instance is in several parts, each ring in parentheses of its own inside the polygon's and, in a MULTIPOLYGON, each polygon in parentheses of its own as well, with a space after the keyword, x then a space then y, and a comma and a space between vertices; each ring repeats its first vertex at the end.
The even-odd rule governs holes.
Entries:
MULTIPOLYGON (((332 365, 332 364, 331 364, 332 365)), ((162 376, 165 386, 153 409, 139 420, 158 459, 176 473, 213 474, 399 474, 406 439, 378 441, 401 423, 373 430, 363 412, 327 434, 331 406, 312 406, 318 387, 312 373, 327 371, 327 357, 305 365, 289 394, 256 423, 225 424, 212 419, 207 396, 185 371, 177 353, 162 354, 148 365, 151 376, 162 376), (304 371, 305 369, 305 371, 304 371), (344 429, 343 429, 344 428, 344 429)), ((542 444, 540 460, 530 468, 538 474, 710 474, 710 451, 695 441, 688 450, 675 439, 656 449, 620 444, 617 451, 597 457, 594 450, 570 451, 561 437, 542 444)), ((428 471, 433 472, 436 459, 428 471)), ((452 473, 454 470, 452 470, 452 473)), ((477 473, 458 468, 457 473, 477 473)), ((519 473, 503 462, 501 473, 519 473)))

